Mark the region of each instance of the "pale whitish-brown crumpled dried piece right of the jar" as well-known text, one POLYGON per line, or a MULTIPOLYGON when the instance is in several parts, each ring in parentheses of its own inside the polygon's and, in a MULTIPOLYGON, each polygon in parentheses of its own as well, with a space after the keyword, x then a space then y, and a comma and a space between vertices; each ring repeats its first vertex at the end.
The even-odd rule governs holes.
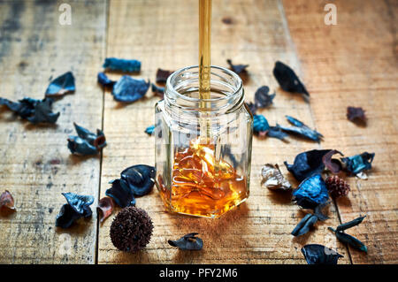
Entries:
POLYGON ((272 190, 287 191, 292 188, 279 170, 278 164, 264 164, 261 169, 262 185, 272 190))

